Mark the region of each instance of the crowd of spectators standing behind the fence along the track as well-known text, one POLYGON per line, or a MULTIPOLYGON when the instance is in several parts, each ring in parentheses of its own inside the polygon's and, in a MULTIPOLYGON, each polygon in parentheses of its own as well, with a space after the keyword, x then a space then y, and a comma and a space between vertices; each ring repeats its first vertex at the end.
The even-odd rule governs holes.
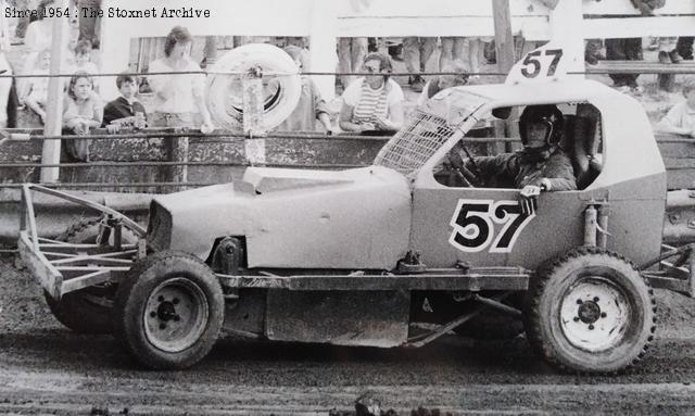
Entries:
MULTIPOLYGON (((27 3, 34 0, 14 0, 27 3)), ((54 0, 39 0, 37 8, 46 8, 54 0)), ((77 0, 75 0, 77 1, 77 0)), ((83 1, 83 0, 79 0, 83 1)), ((98 0, 89 0, 94 2, 98 0)), ((664 5, 665 0, 631 0, 641 13, 647 15, 664 5)), ((30 7, 24 4, 26 7, 30 7)), ((24 39, 24 67, 20 71, 35 77, 22 78, 18 85, 20 103, 26 112, 25 124, 40 126, 46 122, 49 74, 51 63, 51 27, 53 18, 39 17, 34 22, 18 22, 16 36, 24 39), (28 23, 28 24, 27 24, 28 23)), ((99 48, 98 33, 86 30, 85 22, 73 20, 67 51, 63 53, 61 73, 72 74, 64 94, 63 129, 65 134, 85 135, 90 129, 104 127, 110 133, 123 128, 151 127, 193 127, 204 131, 214 129, 213 121, 204 100, 204 76, 190 74, 200 72, 201 64, 191 58, 193 38, 185 27, 174 27, 167 35, 164 56, 149 63, 150 73, 169 72, 182 74, 151 75, 147 85, 152 99, 144 105, 138 100, 142 79, 129 75, 116 78, 119 97, 104 103, 96 88, 91 75, 99 72, 94 51, 99 48), (146 109, 146 106, 150 106, 146 109), (199 124, 200 123, 200 124, 199 124)), ((260 39, 233 37, 233 45, 242 45, 260 39)), ((273 39, 261 39, 271 41, 273 39)), ((300 103, 278 130, 323 130, 329 134, 392 134, 404 123, 405 96, 402 86, 392 77, 393 61, 403 61, 410 89, 420 96, 417 104, 444 88, 475 83, 480 72, 481 60, 494 60, 490 53, 490 40, 477 37, 405 37, 400 48, 378 48, 378 40, 370 38, 341 38, 337 45, 339 65, 337 71, 344 75, 337 78, 337 87, 342 90, 341 108, 336 114, 321 98, 314 81, 302 76, 300 103), (425 77, 426 65, 435 50, 440 51, 433 71, 456 75, 425 77), (379 52, 378 50, 388 53, 379 52), (349 73, 367 73, 365 76, 349 73), (348 73, 348 74, 345 74, 348 73)), ((294 60, 301 71, 308 67, 308 50, 304 38, 278 38, 276 45, 294 60), (281 39, 281 42, 278 40, 281 39)), ((383 42, 383 40, 381 40, 383 42)), ((586 42, 586 61, 592 64, 601 56, 604 41, 594 39, 586 42)), ((661 63, 679 63, 683 59, 693 59, 693 38, 658 38, 654 48, 659 49, 661 63)), ((642 59, 642 39, 606 39, 606 59, 642 59)), ((204 60, 201 62, 205 64, 204 60)), ((637 75, 611 74, 615 87, 626 91, 635 91, 640 87, 637 75)), ((637 91, 639 92, 639 91, 637 91)), ((695 137, 695 88, 686 83, 683 87, 685 101, 674 106, 657 125, 662 131, 695 137)), ((26 125, 25 125, 26 126, 26 125)), ((68 157, 79 161, 89 160, 88 142, 66 141, 68 157)))

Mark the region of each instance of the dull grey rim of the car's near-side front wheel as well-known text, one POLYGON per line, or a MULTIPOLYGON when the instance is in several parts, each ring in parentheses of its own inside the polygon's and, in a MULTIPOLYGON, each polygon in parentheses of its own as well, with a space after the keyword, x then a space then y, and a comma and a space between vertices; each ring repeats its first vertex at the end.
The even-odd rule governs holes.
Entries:
POLYGON ((208 307, 200 287, 182 277, 160 283, 148 298, 144 332, 155 348, 176 353, 193 345, 205 330, 208 307))

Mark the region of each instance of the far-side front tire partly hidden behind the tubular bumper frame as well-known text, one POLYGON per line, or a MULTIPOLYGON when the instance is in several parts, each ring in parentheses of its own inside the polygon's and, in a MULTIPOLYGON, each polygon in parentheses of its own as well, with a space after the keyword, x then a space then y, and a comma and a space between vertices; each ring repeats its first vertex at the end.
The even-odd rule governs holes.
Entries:
MULTIPOLYGON (((100 235, 101 218, 86 218, 71 225, 56 240, 76 244, 97 243, 100 235)), ((124 242, 137 242, 137 236, 123 228, 124 242)), ((53 299, 43 291, 43 298, 55 318, 77 333, 111 333, 112 317, 110 306, 115 290, 109 287, 91 287, 64 294, 61 300, 53 299)))

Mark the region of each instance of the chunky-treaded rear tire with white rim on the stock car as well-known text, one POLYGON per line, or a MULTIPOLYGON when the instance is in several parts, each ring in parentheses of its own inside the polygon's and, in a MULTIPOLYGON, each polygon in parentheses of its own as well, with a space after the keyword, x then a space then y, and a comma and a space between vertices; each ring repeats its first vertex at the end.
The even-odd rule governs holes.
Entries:
POLYGON ((533 276, 526 318, 529 342, 552 365, 616 374, 636 364, 654 339, 656 302, 632 263, 582 248, 533 276))

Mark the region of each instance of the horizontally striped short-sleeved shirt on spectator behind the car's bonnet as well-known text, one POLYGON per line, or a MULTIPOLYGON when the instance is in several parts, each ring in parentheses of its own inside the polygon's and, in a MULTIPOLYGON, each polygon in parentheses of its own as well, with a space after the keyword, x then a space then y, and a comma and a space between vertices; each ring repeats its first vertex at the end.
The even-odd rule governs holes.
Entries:
POLYGON ((346 105, 353 108, 352 123, 375 123, 377 116, 389 117, 390 108, 404 99, 403 90, 393 80, 378 89, 371 89, 365 78, 357 78, 343 92, 346 105))

